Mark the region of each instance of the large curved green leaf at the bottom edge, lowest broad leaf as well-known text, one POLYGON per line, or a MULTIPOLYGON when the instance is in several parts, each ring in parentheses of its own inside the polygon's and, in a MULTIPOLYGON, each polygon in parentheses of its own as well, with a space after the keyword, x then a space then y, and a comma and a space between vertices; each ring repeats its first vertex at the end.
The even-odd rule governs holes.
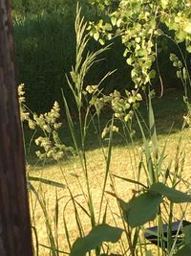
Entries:
POLYGON ((97 225, 86 237, 75 240, 70 255, 85 256, 88 251, 95 249, 103 242, 117 243, 121 234, 122 229, 120 228, 109 226, 107 224, 97 225))

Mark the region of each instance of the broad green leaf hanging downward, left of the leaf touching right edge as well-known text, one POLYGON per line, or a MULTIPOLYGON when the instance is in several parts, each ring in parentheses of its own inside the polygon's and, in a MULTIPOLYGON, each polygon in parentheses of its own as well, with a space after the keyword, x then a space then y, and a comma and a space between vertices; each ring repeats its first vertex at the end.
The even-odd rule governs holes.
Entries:
POLYGON ((136 227, 147 221, 153 221, 158 213, 158 206, 161 200, 161 196, 151 195, 150 193, 141 194, 137 198, 133 198, 128 203, 128 223, 132 227, 136 227))

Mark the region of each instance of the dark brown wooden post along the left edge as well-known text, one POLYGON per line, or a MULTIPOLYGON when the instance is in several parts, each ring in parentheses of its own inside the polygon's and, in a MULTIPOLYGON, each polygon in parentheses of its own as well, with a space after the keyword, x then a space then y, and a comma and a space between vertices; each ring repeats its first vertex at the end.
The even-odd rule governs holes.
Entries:
POLYGON ((0 0, 0 255, 32 256, 32 232, 19 120, 11 5, 0 0))

